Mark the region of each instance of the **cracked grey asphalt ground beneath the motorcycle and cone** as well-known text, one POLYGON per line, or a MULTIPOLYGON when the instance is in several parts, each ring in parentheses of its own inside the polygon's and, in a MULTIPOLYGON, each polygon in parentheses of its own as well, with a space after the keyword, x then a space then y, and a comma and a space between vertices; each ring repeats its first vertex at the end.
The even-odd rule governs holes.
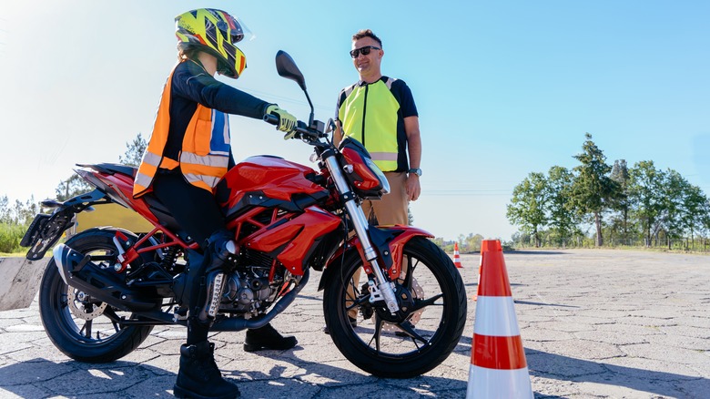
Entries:
MULTIPOLYGON (((710 398, 710 257, 651 251, 504 254, 536 398, 710 398)), ((469 316, 462 340, 417 378, 363 373, 321 332, 320 273, 273 324, 289 351, 245 353, 244 333, 214 333, 217 363, 247 398, 465 397, 479 255, 462 255, 469 316)), ((120 361, 60 353, 37 303, 0 312, 0 398, 172 396, 183 327, 156 327, 120 361)))

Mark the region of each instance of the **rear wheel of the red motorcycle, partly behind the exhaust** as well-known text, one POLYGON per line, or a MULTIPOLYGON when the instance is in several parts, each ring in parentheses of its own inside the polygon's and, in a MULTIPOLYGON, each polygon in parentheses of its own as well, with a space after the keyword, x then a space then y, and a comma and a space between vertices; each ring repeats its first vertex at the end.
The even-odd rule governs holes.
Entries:
MULTIPOLYGON (((86 230, 72 237, 66 245, 85 255, 101 256, 101 262, 113 265, 117 256, 114 235, 114 230, 86 230)), ((86 363, 113 362, 133 352, 153 330, 153 326, 121 327, 117 319, 130 318, 130 312, 91 299, 86 293, 66 285, 54 259, 49 261, 42 277, 39 313, 56 348, 86 363)))

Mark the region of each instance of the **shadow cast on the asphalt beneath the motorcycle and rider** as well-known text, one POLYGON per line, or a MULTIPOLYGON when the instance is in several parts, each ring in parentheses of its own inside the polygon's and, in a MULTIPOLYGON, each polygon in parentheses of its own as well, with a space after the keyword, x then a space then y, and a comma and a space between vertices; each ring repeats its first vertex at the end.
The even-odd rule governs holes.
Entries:
MULTIPOLYGON (((398 398, 419 398, 421 394, 454 398, 461 397, 467 386, 465 381, 426 375, 402 380, 383 379, 330 364, 299 361, 278 351, 262 354, 265 362, 268 359, 285 361, 302 371, 284 377, 283 364, 275 364, 268 373, 261 373, 242 372, 235 369, 238 363, 230 363, 232 365, 223 368, 222 373, 238 385, 242 397, 342 398, 354 392, 358 396, 396 392, 398 398), (310 380, 314 375, 323 377, 326 382, 313 384, 310 380)), ((54 363, 37 358, 0 368, 0 388, 23 398, 168 398, 173 397, 175 379, 175 373, 151 365, 120 361, 54 363)))

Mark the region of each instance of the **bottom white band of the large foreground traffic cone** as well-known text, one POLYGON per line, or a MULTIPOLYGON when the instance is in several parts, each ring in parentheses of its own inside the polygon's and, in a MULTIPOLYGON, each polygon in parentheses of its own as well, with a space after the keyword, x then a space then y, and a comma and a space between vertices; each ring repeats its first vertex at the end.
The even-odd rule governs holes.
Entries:
POLYGON ((494 370, 472 364, 469 375, 466 399, 533 398, 527 367, 494 370))

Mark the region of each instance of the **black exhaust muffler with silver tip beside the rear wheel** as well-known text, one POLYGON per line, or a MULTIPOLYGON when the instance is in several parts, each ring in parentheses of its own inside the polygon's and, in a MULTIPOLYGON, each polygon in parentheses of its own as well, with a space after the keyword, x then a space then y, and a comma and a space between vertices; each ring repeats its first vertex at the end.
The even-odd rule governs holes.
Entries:
POLYGON ((101 267, 91 257, 58 244, 52 252, 59 275, 66 285, 81 290, 92 298, 106 302, 126 312, 145 312, 155 309, 157 299, 147 299, 126 282, 113 267, 101 267))

